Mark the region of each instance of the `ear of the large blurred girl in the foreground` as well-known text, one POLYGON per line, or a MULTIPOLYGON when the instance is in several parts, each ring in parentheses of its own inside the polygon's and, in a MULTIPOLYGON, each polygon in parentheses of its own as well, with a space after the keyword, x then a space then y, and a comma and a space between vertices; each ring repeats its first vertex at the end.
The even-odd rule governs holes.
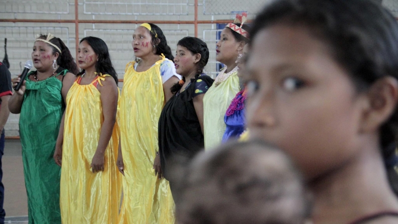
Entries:
POLYGON ((384 77, 376 81, 366 95, 366 107, 361 120, 361 132, 376 131, 396 112, 398 81, 384 77))

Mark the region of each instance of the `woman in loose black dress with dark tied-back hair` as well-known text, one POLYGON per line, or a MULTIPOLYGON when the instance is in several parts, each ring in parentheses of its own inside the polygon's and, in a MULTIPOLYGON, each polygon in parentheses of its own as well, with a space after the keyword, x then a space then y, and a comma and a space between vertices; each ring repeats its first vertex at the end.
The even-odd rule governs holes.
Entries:
MULTIPOLYGON (((159 152, 154 169, 173 188, 172 169, 189 161, 203 149, 203 96, 213 80, 203 73, 209 52, 206 43, 196 37, 184 37, 177 44, 174 63, 183 80, 172 87, 174 96, 167 102, 159 119, 159 152)), ((174 190, 174 191, 173 191, 174 190)))

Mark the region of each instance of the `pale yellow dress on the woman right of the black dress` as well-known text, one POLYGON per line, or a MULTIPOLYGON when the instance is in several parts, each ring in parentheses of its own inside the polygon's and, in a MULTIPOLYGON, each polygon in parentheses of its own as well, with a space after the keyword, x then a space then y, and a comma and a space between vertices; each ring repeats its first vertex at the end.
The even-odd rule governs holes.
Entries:
POLYGON ((218 86, 212 85, 203 97, 204 149, 221 143, 225 132, 224 116, 232 99, 239 92, 237 72, 232 73, 218 86))

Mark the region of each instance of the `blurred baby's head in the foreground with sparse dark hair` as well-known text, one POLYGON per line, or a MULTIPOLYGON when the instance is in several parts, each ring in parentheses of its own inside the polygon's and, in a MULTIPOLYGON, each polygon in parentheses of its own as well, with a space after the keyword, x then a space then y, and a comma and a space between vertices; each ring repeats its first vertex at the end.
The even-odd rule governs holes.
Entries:
POLYGON ((178 192, 179 224, 303 224, 310 211, 298 170, 262 141, 200 153, 178 192))

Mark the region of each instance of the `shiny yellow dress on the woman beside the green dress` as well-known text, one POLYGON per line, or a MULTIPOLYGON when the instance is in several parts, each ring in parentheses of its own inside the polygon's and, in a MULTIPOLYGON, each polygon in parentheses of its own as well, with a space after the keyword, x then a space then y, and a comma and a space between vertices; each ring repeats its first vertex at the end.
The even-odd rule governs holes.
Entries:
POLYGON ((119 128, 114 125, 105 150, 104 171, 90 167, 97 150, 103 122, 100 92, 79 78, 66 97, 62 151, 60 207, 63 224, 116 224, 121 195, 121 178, 116 166, 119 128))

